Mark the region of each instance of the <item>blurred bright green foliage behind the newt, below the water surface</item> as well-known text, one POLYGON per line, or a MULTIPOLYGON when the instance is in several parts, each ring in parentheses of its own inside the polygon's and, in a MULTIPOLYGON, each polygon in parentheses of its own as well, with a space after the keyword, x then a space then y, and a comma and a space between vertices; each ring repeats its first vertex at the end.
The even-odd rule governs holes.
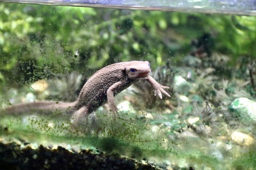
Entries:
POLYGON ((167 61, 179 65, 200 38, 207 41, 208 54, 225 54, 236 66, 240 56, 255 58, 255 21, 253 16, 2 3, 0 86, 70 72, 90 77, 121 61, 148 60, 153 70, 167 61))

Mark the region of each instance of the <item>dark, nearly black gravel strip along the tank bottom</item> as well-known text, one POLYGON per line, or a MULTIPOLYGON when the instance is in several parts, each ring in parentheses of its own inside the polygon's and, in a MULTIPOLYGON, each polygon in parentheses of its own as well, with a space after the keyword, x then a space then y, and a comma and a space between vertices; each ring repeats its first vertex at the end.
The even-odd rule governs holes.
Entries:
POLYGON ((0 142, 0 169, 162 169, 117 154, 105 154, 92 149, 68 150, 33 148, 29 143, 0 142))

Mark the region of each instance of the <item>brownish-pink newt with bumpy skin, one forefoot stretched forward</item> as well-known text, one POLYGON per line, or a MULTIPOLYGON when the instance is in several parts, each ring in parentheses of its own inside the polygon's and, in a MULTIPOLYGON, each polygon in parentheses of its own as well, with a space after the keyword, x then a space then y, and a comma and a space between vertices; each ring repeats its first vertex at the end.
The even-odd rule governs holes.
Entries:
POLYGON ((150 64, 145 61, 131 61, 111 64, 97 71, 84 84, 78 99, 72 103, 55 103, 53 101, 41 101, 28 104, 20 104, 9 107, 7 113, 71 113, 71 122, 77 123, 85 115, 92 113, 102 104, 108 103, 111 111, 117 113, 114 96, 131 86, 132 83, 145 79, 155 89, 155 95, 162 99, 162 93, 170 95, 164 90, 169 87, 156 82, 149 73, 150 64))

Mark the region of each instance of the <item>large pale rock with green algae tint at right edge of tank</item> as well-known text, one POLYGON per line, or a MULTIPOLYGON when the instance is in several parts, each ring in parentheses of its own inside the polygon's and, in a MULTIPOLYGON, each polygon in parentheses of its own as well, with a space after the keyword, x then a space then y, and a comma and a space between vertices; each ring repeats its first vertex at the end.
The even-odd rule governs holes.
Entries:
POLYGON ((243 121, 256 122, 256 101, 241 97, 231 103, 229 110, 241 116, 243 121))

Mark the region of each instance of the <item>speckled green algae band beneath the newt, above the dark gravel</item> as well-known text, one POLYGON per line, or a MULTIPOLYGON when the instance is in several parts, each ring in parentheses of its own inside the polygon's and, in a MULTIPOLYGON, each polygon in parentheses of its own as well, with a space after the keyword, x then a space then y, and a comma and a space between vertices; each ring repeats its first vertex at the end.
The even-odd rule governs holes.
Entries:
POLYGON ((62 146, 70 151, 70 148, 78 147, 80 150, 92 149, 96 153, 100 150, 149 162, 154 160, 156 164, 167 161, 181 167, 195 163, 199 167, 213 169, 217 166, 218 160, 207 154, 207 148, 198 150, 195 145, 189 147, 186 141, 169 140, 164 132, 154 133, 151 131, 152 125, 143 118, 126 114, 114 117, 101 113, 95 120, 88 118, 87 121, 87 126, 82 123, 74 129, 67 119, 57 120, 38 115, 6 116, 0 120, 0 135, 6 140, 26 141, 36 146, 62 146), (183 160, 188 162, 181 164, 183 160))

